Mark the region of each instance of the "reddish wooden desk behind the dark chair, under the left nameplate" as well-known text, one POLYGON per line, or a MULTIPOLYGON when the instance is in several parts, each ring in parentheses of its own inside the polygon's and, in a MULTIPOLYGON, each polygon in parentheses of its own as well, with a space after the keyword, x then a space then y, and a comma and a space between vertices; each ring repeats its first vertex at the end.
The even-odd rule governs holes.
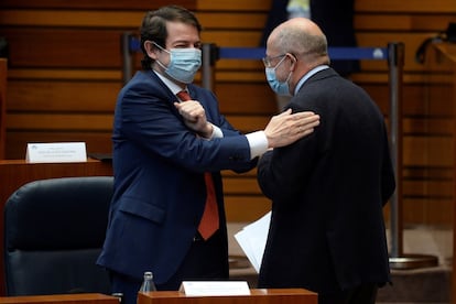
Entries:
POLYGON ((11 194, 37 180, 72 176, 112 176, 110 162, 30 164, 23 160, 0 160, 0 295, 6 294, 3 265, 3 209, 11 194))

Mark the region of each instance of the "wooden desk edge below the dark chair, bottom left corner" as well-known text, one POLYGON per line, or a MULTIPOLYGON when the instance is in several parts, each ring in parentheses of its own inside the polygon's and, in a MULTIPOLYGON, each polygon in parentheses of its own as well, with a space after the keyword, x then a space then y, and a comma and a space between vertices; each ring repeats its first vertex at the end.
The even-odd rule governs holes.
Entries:
POLYGON ((0 304, 119 304, 119 298, 99 293, 1 296, 0 304))

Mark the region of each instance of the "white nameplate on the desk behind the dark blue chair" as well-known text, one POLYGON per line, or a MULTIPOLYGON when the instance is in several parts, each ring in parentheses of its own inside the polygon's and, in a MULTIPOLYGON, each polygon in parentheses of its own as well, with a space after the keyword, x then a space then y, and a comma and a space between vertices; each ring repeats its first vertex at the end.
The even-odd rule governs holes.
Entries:
POLYGON ((28 143, 28 163, 87 162, 85 142, 28 143))

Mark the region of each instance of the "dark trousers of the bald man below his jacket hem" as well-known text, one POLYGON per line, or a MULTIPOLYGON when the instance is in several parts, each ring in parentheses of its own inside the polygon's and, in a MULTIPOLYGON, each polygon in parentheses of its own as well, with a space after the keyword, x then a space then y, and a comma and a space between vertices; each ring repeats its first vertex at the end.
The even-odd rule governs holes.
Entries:
POLYGON ((334 294, 318 294, 318 304, 376 304, 378 284, 369 283, 334 294))

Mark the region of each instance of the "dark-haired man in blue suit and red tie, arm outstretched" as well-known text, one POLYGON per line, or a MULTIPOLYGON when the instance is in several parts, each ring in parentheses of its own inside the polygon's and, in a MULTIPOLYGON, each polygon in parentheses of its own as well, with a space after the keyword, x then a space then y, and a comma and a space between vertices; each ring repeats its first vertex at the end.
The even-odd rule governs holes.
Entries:
POLYGON ((270 148, 311 133, 319 117, 285 111, 263 131, 241 134, 216 97, 192 84, 200 66, 200 24, 176 6, 148 12, 141 26, 143 70, 122 88, 113 122, 115 193, 97 263, 112 292, 135 303, 144 271, 158 290, 183 280, 227 280, 228 241, 221 170, 246 172, 270 148), (177 97, 185 90, 189 97, 177 97), (191 99, 185 102, 186 99, 191 99), (206 174, 209 173, 209 174, 206 174), (218 229, 198 230, 214 184, 218 229))

